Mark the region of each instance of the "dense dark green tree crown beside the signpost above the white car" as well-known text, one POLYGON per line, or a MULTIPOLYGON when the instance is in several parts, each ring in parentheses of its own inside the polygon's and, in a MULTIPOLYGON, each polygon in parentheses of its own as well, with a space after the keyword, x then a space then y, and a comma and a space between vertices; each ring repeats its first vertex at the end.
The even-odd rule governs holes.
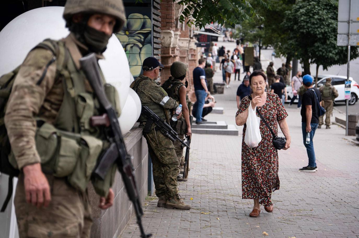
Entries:
MULTIPOLYGON (((281 52, 323 69, 347 62, 347 47, 337 46, 337 0, 299 1, 286 11, 281 27, 288 32, 281 52)), ((283 43, 283 42, 281 42, 283 43)), ((351 47, 350 59, 359 57, 351 47)))

